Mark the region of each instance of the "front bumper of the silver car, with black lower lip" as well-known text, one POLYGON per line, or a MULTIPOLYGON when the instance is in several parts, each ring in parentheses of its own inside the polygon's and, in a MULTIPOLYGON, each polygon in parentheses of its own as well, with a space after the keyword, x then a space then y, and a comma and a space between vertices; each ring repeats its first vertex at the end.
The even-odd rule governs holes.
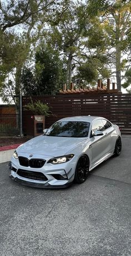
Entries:
POLYGON ((74 160, 56 165, 45 163, 42 168, 31 168, 20 165, 18 159, 12 157, 9 177, 35 188, 66 188, 74 180, 74 168, 74 160), (41 174, 45 179, 41 179, 41 174))

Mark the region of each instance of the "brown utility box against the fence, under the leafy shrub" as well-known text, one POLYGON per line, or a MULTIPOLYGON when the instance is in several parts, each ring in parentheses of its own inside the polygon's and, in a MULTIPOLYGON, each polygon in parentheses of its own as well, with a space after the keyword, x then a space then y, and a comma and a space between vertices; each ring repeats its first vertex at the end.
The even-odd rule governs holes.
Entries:
POLYGON ((41 135, 45 128, 44 116, 33 116, 34 119, 34 137, 41 135))

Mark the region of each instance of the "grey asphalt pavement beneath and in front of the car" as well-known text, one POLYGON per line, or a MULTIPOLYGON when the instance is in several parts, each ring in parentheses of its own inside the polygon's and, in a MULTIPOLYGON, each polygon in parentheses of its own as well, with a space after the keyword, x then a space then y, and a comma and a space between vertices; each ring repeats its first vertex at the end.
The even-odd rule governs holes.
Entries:
POLYGON ((1 256, 130 256, 131 137, 82 185, 24 187, 0 164, 1 256))

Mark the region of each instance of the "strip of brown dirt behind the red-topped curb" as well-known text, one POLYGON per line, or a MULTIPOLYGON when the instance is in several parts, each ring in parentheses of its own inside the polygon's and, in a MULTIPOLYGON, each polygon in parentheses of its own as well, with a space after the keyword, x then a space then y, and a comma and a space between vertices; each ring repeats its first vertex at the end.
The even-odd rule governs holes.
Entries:
POLYGON ((1 137, 0 138, 0 147, 7 146, 7 145, 13 145, 13 144, 20 144, 27 142, 29 138, 27 137, 1 137))

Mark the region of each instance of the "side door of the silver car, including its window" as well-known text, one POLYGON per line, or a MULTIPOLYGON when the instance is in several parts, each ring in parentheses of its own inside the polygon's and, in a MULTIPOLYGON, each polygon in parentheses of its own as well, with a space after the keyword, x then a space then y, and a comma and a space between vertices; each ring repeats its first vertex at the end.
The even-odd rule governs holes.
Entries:
POLYGON ((94 164, 100 158, 104 157, 105 154, 107 154, 109 136, 108 136, 108 133, 105 132, 105 127, 102 119, 97 119, 93 122, 92 130, 100 130, 103 132, 103 135, 98 135, 90 138, 89 148, 92 154, 92 164, 94 164))

